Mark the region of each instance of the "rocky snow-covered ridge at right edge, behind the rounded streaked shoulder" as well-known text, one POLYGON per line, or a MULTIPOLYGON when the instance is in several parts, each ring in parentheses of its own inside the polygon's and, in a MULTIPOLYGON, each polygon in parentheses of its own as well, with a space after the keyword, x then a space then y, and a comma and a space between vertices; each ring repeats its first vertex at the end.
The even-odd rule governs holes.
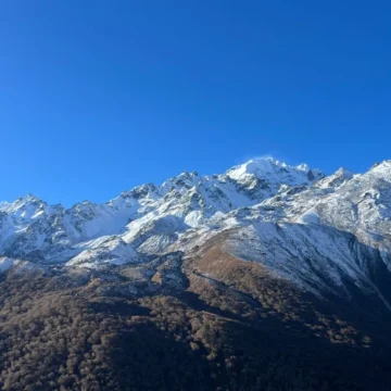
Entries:
POLYGON ((391 161, 365 174, 336 174, 294 192, 283 191, 260 204, 270 219, 336 227, 361 241, 391 249, 391 161))

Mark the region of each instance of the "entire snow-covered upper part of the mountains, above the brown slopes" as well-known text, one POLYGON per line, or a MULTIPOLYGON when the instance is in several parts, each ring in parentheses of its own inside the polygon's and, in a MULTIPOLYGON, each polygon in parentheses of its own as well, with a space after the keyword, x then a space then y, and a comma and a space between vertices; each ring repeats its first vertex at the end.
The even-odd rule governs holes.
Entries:
MULTIPOLYGON (((0 203, 0 255, 12 267, 142 265, 213 241, 317 294, 378 294, 391 267, 391 161, 330 176, 305 164, 253 159, 225 174, 182 173, 104 203, 71 209, 27 195, 0 203), (224 239, 222 239, 224 238, 224 239)), ((391 306, 390 306, 391 308, 391 306)))

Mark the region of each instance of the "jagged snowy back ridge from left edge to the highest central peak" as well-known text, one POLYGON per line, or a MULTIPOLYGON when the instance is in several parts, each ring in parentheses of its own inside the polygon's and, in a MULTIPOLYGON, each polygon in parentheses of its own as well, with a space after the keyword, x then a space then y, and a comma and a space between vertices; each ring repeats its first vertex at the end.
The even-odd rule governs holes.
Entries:
MULTIPOLYGON (((254 205, 273 197, 281 186, 308 185, 320 177, 321 173, 305 165, 290 167, 265 159, 250 161, 223 175, 200 177, 197 173, 182 173, 159 187, 149 184, 123 192, 105 204, 85 201, 64 209, 28 194, 0 204, 0 251, 49 263, 71 261, 76 255, 79 260, 86 251, 108 241, 160 252, 179 234, 213 216, 254 205)), ((114 257, 123 256, 127 262, 127 251, 114 257)), ((89 260, 98 260, 90 255, 89 260)), ((105 261, 104 256, 99 258, 105 261)), ((111 256, 106 262, 111 262, 111 256)))

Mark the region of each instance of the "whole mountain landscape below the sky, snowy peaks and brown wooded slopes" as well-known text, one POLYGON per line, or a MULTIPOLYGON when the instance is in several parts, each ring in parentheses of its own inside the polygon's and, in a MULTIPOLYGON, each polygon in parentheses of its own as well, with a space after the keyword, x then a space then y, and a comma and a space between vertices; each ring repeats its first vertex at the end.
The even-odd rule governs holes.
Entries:
POLYGON ((0 387, 389 390, 390 232, 390 161, 0 203, 0 387))

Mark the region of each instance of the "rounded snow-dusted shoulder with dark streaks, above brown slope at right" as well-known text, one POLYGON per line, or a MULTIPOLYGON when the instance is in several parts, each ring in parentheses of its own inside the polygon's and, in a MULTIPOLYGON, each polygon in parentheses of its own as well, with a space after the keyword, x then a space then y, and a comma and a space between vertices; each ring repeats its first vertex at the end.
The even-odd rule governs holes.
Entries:
MULTIPOLYGON (((218 224, 186 232, 169 250, 195 252, 202 257, 203 249, 214 242, 227 254, 258 262, 276 277, 320 297, 338 292, 350 298, 352 286, 378 295, 374 273, 387 272, 391 263, 390 252, 381 253, 333 227, 265 222, 251 214, 236 213, 218 224)), ((379 298, 391 310, 391 300, 386 300, 381 292, 379 298)))

